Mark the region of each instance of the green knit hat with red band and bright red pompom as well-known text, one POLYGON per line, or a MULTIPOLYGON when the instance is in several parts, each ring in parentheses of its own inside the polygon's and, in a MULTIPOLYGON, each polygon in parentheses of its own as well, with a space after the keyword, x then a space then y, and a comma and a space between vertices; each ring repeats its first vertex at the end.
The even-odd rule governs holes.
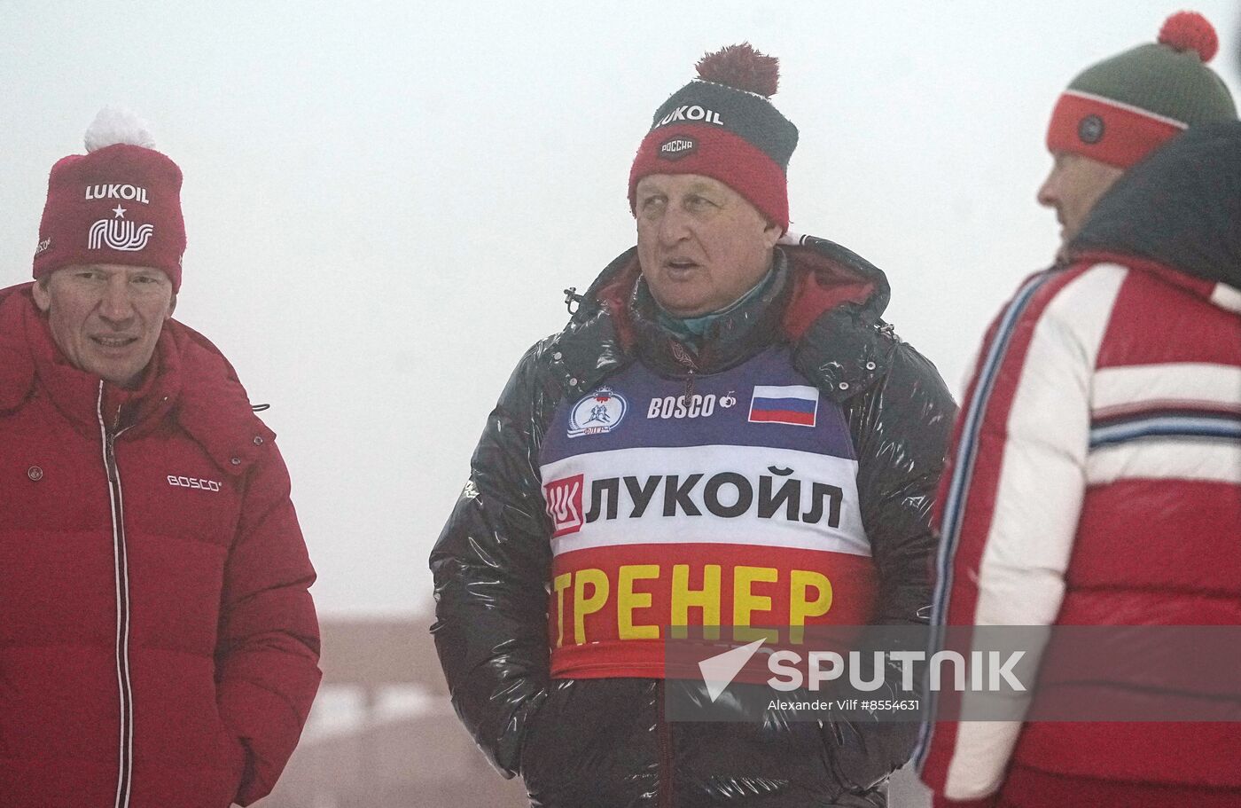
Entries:
POLYGON ((1237 117, 1232 96, 1206 66, 1219 50, 1206 19, 1172 15, 1159 40, 1087 67, 1060 96, 1047 149, 1127 169, 1185 129, 1237 117))

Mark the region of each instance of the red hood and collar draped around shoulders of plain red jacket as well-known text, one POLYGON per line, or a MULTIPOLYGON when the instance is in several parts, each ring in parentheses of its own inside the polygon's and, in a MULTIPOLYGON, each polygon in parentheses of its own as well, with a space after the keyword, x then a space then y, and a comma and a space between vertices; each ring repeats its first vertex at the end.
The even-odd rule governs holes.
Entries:
MULTIPOLYGON (((32 283, 0 290, 0 417, 43 395, 76 429, 98 434, 99 377, 69 365, 56 348, 30 292, 32 283)), ((139 395, 112 395, 133 410, 125 438, 175 420, 223 472, 242 474, 274 438, 254 416, 228 361, 205 336, 168 320, 155 348, 155 377, 139 395)))

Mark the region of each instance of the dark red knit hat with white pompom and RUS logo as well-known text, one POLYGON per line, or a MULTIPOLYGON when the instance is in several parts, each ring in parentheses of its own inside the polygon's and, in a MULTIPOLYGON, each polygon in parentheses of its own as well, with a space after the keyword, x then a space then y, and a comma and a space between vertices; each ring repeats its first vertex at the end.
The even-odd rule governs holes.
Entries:
POLYGON ((34 276, 72 264, 161 269, 181 288, 185 222, 181 169, 155 151, 132 113, 104 108, 86 133, 87 153, 62 158, 47 179, 34 276))

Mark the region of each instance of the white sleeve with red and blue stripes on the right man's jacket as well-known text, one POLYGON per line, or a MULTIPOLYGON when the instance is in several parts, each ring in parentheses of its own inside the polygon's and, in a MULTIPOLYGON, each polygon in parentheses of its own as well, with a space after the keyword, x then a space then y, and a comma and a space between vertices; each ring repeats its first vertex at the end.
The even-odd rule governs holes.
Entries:
MULTIPOLYGON (((1126 274, 1095 264, 1034 276, 989 330, 941 482, 936 626, 1055 621, 1086 488, 1091 377, 1126 274)), ((937 804, 993 794, 1020 727, 923 727, 916 760, 937 804)))

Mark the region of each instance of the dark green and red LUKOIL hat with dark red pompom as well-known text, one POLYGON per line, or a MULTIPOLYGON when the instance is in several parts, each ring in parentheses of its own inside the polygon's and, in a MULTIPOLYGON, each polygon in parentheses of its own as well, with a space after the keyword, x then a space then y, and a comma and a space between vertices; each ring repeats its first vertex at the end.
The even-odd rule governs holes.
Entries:
POLYGON ((699 78, 673 93, 652 120, 629 171, 629 210, 649 174, 699 174, 724 182, 788 230, 788 159, 797 127, 772 105, 779 62, 750 43, 704 56, 699 78))

